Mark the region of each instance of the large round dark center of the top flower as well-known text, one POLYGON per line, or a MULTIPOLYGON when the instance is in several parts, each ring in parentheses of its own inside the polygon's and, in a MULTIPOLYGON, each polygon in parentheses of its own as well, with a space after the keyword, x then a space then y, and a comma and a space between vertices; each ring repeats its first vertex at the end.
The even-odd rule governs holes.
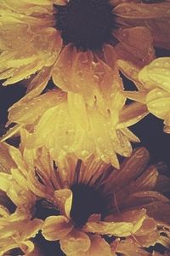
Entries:
POLYGON ((65 6, 54 8, 56 28, 65 44, 86 50, 100 49, 111 41, 116 22, 108 0, 70 0, 65 6))

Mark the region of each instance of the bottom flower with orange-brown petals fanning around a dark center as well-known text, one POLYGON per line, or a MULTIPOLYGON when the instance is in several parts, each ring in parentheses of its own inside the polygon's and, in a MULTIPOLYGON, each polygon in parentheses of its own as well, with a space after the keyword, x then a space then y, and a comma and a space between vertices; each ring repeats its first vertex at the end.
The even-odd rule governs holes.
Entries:
POLYGON ((129 240, 141 251, 156 242, 169 246, 169 200, 156 191, 169 179, 156 166, 145 168, 146 149, 134 150, 117 170, 94 155, 83 162, 70 154, 55 163, 46 148, 26 149, 25 136, 20 149, 0 145, 1 255, 14 248, 49 255, 57 241, 68 256, 113 255, 114 248, 122 252, 117 243, 129 240))

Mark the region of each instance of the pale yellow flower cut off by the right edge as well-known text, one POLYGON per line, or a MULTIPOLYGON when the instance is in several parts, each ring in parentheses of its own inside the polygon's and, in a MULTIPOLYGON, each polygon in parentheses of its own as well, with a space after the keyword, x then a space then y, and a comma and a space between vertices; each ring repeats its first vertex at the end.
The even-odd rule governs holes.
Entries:
POLYGON ((139 90, 128 91, 126 96, 145 103, 150 113, 164 120, 164 131, 170 133, 170 57, 152 61, 139 72, 137 79, 139 90))

